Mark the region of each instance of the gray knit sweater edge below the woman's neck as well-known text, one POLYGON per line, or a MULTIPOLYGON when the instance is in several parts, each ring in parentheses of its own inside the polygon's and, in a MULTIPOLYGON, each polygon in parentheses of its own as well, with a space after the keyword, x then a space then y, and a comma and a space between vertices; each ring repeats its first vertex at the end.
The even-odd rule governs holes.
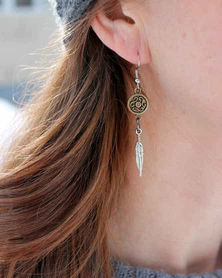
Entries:
POLYGON ((197 275, 195 273, 189 275, 183 274, 168 274, 160 270, 149 270, 145 267, 129 267, 123 261, 112 260, 113 278, 222 278, 222 269, 216 269, 212 273, 203 273, 197 275))

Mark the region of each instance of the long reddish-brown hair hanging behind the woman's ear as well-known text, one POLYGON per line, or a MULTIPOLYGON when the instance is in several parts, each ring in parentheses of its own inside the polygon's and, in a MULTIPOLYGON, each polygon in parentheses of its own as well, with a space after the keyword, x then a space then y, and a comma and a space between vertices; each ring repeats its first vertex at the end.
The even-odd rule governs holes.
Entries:
POLYGON ((111 277, 106 226, 123 186, 130 73, 90 27, 101 2, 66 29, 63 54, 22 107, 0 178, 1 278, 111 277))

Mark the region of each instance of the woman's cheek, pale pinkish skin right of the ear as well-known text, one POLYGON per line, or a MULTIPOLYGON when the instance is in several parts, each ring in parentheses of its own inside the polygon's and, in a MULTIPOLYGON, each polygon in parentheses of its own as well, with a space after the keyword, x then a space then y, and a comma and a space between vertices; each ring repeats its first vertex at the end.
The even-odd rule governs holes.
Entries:
POLYGON ((163 0, 149 9, 150 66, 164 92, 191 109, 213 107, 222 116, 221 1, 163 0))

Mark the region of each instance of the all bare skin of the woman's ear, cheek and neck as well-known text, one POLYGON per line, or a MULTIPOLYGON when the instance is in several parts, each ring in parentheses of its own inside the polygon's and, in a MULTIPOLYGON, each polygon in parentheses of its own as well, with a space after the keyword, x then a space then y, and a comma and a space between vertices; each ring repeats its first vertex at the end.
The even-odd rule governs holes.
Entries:
POLYGON ((113 258, 132 266, 185 275, 222 268, 221 15, 221 0, 127 0, 112 19, 101 10, 92 20, 135 66, 139 53, 150 99, 141 177, 128 111, 125 190, 108 229, 113 258))

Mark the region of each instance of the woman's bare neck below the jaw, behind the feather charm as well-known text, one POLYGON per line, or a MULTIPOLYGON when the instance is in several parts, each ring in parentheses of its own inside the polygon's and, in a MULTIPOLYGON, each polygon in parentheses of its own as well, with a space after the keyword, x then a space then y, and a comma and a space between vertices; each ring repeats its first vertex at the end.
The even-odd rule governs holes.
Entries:
POLYGON ((140 121, 142 176, 128 112, 125 189, 110 219, 111 254, 171 274, 222 268, 222 119, 165 95, 154 78, 143 87, 152 103, 140 121))

